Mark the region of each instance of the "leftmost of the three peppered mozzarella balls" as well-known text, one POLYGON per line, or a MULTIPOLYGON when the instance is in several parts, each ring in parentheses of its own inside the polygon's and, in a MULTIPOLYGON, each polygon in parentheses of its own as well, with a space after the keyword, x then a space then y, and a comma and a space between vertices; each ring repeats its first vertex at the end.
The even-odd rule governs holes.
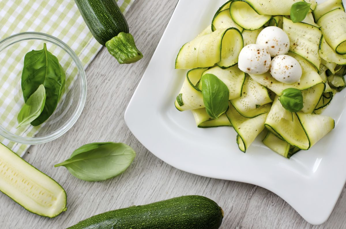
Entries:
POLYGON ((251 44, 240 51, 238 67, 245 73, 259 75, 269 71, 270 62, 270 54, 264 47, 251 44))

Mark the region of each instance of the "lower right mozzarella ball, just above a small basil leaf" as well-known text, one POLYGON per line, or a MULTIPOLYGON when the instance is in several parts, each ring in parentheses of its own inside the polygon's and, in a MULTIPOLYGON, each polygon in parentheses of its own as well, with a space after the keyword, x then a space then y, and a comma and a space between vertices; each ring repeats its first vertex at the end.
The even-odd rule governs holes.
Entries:
POLYGON ((272 59, 270 74, 275 80, 286 84, 300 81, 302 68, 299 62, 289 55, 279 55, 272 59))

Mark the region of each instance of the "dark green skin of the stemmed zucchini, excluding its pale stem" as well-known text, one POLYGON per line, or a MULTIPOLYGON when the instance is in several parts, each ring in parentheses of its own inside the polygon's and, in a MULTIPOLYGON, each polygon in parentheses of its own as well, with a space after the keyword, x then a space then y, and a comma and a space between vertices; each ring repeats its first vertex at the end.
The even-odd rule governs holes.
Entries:
POLYGON ((129 33, 127 21, 115 0, 75 0, 86 25, 101 45, 120 32, 129 33))

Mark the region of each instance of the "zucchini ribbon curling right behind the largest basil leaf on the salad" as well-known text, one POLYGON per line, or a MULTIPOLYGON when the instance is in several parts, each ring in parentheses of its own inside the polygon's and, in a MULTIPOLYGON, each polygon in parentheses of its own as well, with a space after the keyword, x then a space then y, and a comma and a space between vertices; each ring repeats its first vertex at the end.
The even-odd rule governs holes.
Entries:
POLYGON ((242 96, 245 73, 240 71, 237 65, 227 69, 216 66, 203 72, 203 75, 205 74, 216 75, 226 84, 229 90, 229 99, 236 99, 242 96))

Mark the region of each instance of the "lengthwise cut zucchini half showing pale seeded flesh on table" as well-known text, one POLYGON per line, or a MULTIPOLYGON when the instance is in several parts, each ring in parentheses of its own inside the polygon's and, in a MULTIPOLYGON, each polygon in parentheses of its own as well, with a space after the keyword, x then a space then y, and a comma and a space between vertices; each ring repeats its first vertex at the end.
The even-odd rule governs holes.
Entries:
POLYGON ((53 218, 67 210, 65 190, 2 144, 0 167, 0 191, 29 212, 53 218))

